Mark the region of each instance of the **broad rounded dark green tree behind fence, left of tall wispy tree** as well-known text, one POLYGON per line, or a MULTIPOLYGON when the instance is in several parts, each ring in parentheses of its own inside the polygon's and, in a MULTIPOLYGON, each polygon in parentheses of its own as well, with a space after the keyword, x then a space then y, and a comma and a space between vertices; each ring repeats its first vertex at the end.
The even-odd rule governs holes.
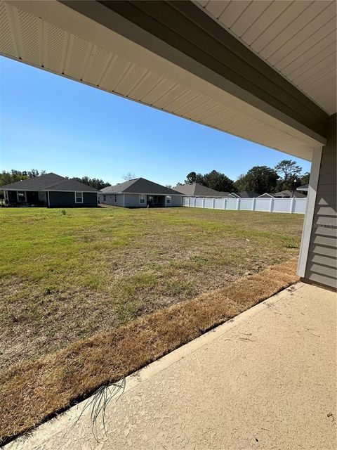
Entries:
POLYGON ((254 166, 246 174, 239 176, 234 186, 237 191, 253 191, 258 194, 275 192, 279 175, 267 166, 254 166))

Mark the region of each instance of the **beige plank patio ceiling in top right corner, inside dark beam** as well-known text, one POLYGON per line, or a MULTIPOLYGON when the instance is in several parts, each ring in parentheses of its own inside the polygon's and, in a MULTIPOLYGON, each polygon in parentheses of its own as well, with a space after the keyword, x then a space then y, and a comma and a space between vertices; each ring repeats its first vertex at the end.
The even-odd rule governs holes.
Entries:
POLYGON ((195 1, 326 113, 336 113, 336 1, 195 1))

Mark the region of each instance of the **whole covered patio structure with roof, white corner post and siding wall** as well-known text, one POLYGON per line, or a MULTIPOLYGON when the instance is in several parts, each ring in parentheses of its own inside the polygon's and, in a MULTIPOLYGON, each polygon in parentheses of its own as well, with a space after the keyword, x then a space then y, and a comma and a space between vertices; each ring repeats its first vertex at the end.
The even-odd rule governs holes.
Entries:
POLYGON ((13 0, 0 15, 4 56, 312 161, 298 274, 336 288, 335 1, 13 0))

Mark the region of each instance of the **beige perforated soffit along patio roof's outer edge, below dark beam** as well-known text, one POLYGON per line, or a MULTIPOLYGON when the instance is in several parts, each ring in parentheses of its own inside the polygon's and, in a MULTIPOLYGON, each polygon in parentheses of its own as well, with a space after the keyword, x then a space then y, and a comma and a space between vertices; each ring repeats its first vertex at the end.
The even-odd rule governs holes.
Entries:
POLYGON ((0 24, 4 56, 305 160, 319 145, 59 2, 0 1, 0 24))

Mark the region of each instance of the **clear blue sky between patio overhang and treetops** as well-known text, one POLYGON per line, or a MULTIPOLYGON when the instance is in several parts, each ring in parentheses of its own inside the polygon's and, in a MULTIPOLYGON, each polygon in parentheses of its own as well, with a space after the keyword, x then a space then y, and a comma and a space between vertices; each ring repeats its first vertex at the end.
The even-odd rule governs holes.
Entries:
POLYGON ((183 182, 216 169, 231 179, 254 165, 293 159, 200 124, 70 79, 0 57, 0 169, 39 169, 62 176, 124 174, 183 182))

